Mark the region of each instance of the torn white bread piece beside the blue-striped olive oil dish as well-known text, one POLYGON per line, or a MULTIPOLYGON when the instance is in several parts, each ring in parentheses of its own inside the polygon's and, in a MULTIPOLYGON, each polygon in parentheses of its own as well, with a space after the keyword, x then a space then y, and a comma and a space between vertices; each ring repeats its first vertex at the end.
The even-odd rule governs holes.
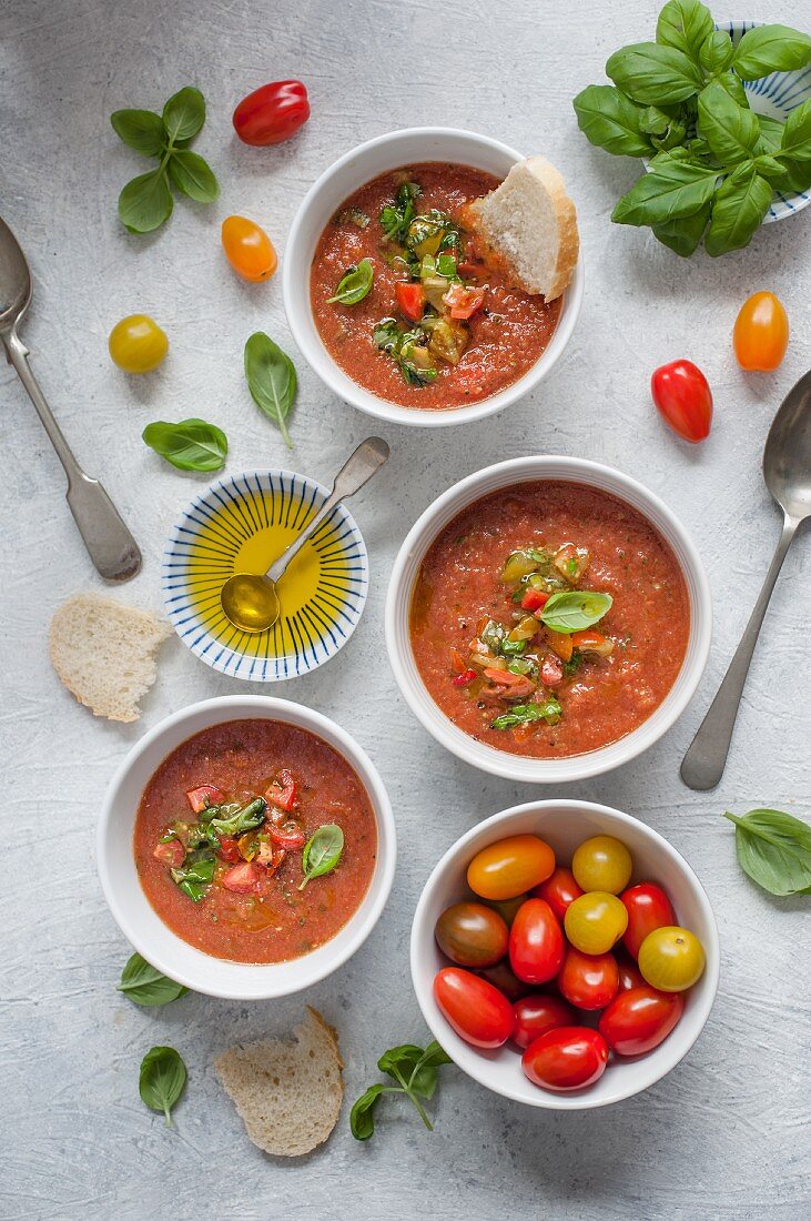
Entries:
POLYGON ((78 593, 51 619, 48 645, 62 683, 95 717, 138 720, 138 701, 157 673, 155 656, 171 635, 149 610, 78 593))

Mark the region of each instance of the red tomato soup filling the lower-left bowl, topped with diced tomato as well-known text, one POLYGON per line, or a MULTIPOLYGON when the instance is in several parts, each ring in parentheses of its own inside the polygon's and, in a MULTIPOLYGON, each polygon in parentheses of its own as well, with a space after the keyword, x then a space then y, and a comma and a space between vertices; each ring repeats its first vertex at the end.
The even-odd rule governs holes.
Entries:
MULTIPOLYGON (((138 807, 133 850, 146 897, 184 941, 217 958, 285 962, 360 907, 377 823, 360 777, 327 742, 278 720, 232 720, 163 759, 138 807), (340 833, 343 850, 301 888, 316 833, 328 858, 340 833)), ((313 845, 310 867, 322 856, 313 845)))

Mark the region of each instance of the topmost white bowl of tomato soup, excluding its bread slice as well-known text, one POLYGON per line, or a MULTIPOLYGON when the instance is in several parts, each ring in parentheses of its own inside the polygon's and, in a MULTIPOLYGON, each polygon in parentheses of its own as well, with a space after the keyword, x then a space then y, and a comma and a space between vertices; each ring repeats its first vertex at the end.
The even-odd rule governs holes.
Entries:
POLYGON ((467 206, 521 160, 473 132, 410 128, 352 149, 313 184, 283 289, 293 337, 330 389, 434 427, 500 411, 551 371, 579 314, 582 263, 545 302, 485 266, 466 225, 467 206))

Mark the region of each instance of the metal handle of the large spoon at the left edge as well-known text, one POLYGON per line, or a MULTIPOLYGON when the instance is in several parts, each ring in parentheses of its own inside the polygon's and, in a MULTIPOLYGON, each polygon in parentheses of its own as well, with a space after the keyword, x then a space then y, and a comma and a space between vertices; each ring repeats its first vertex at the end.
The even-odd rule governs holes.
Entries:
POLYGON ((28 348, 16 331, 5 335, 9 361, 28 391, 43 427, 67 475, 67 503, 98 571, 109 581, 128 581, 140 568, 138 543, 98 480, 79 466, 28 365, 28 348))

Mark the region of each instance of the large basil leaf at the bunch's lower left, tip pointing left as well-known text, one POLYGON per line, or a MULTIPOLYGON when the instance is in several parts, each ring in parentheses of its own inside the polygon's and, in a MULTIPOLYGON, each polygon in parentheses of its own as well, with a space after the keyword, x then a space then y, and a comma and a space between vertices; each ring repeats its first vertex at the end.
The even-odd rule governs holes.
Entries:
POLYGON ((627 195, 616 204, 611 220, 618 225, 663 225, 693 216, 712 198, 718 171, 711 166, 659 153, 627 195))

